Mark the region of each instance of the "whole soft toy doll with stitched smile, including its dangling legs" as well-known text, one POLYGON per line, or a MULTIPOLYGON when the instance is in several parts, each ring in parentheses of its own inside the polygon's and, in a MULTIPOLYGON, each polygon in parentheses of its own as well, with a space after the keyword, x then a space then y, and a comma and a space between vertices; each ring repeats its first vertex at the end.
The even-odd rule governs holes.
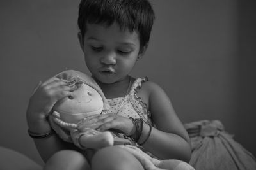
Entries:
POLYGON ((99 85, 93 78, 79 71, 64 71, 57 74, 56 77, 67 81, 68 86, 77 86, 77 89, 70 96, 61 99, 54 105, 49 117, 52 129, 64 141, 73 142, 81 149, 99 149, 118 145, 134 155, 146 170, 195 170, 189 164, 180 160, 152 158, 136 146, 129 145, 131 144, 129 139, 119 138, 115 132, 95 130, 97 127, 91 124, 92 122, 88 120, 88 117, 107 113, 109 108, 99 85), (90 123, 90 126, 86 123, 90 123), (72 141, 70 134, 77 135, 77 138, 72 141), (81 134, 86 137, 83 146, 76 141, 81 134))

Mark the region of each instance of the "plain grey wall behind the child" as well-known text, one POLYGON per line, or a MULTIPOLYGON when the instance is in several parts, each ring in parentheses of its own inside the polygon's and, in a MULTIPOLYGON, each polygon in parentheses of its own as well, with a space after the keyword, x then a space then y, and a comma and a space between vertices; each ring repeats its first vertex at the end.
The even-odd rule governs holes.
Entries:
MULTIPOLYGON (((133 76, 163 87, 184 123, 218 119, 256 155, 255 1, 152 0, 150 46, 133 76)), ((0 145, 42 164, 26 107, 39 80, 88 73, 77 40, 78 0, 0 1, 0 145)))

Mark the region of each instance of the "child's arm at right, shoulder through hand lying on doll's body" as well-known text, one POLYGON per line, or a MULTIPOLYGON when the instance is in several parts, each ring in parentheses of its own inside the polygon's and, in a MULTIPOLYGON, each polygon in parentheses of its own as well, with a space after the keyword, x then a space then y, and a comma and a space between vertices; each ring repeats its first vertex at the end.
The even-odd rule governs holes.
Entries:
MULTIPOLYGON (((152 127, 147 139, 150 127, 143 123, 143 131, 138 143, 143 143, 147 139, 143 147, 159 159, 179 159, 188 162, 191 156, 188 133, 163 89, 156 83, 146 81, 138 91, 138 97, 147 103, 152 113, 152 120, 156 124, 156 128, 152 127)), ((99 126, 99 131, 115 129, 127 136, 136 133, 132 120, 120 115, 97 115, 92 119, 92 122, 95 120, 95 124, 99 126)))

